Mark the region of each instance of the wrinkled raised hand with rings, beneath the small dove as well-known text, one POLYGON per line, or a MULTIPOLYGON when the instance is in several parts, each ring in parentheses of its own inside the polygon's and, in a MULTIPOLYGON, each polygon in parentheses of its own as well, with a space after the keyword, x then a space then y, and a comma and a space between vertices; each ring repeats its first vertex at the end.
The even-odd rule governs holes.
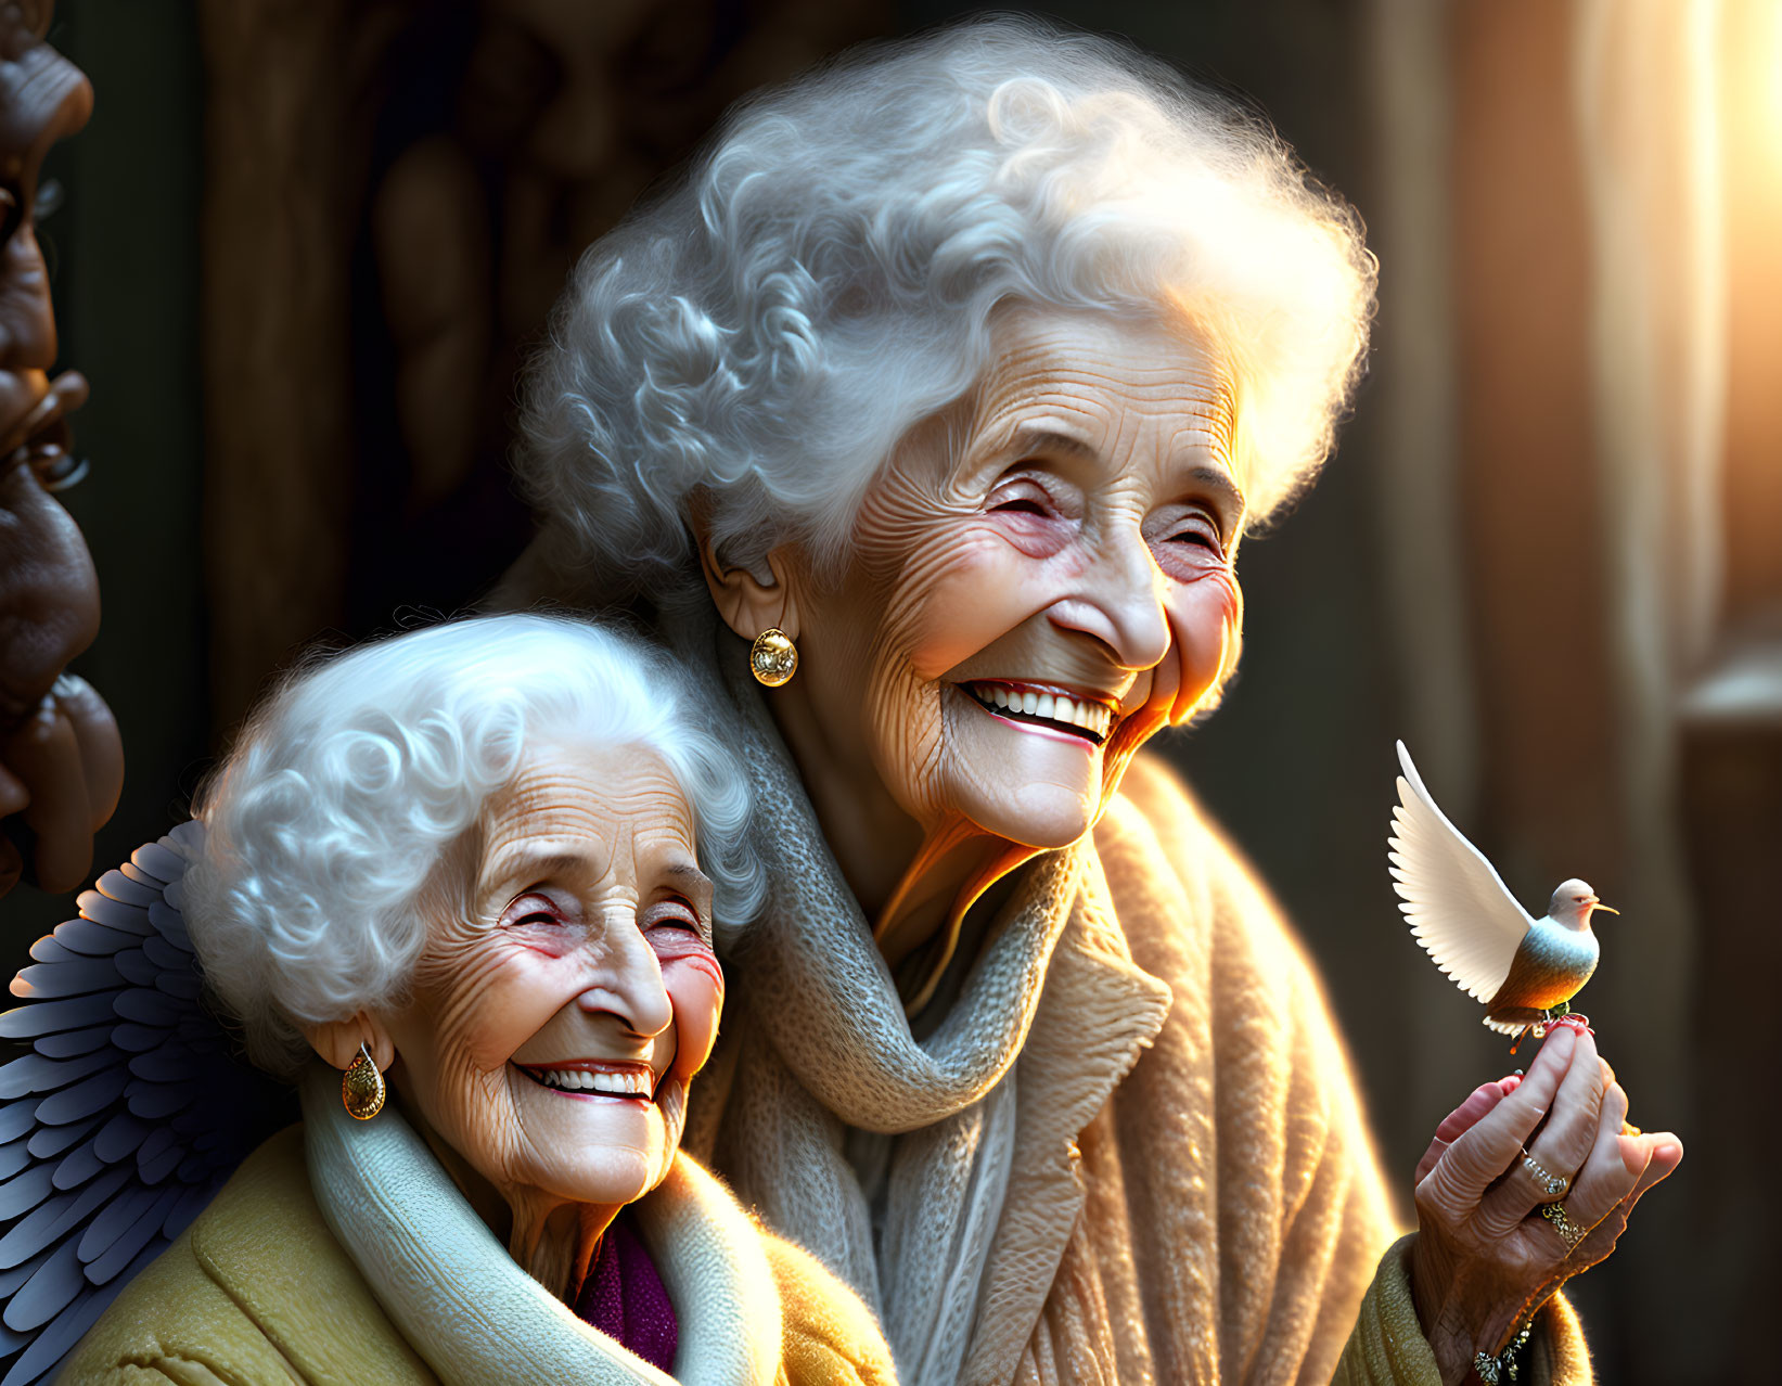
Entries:
POLYGON ((1524 1080, 1479 1087, 1436 1128, 1417 1165, 1411 1295, 1443 1382, 1499 1352, 1568 1277, 1611 1251, 1639 1197, 1677 1169, 1682 1142, 1623 1128, 1627 1094, 1582 1026, 1559 1024, 1524 1080), (1570 1179, 1574 1247, 1522 1149, 1570 1179))

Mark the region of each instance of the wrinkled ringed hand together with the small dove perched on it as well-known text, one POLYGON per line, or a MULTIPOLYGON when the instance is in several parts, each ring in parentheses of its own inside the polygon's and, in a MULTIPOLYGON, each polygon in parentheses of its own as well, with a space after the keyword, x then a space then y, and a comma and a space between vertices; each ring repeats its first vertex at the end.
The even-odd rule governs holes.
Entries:
POLYGON ((1436 807, 1402 743, 1399 764, 1390 860, 1411 932, 1484 1005, 1492 1030, 1520 1044, 1552 1028, 1527 1078, 1479 1087, 1417 1167, 1411 1295, 1442 1379, 1511 1379, 1508 1345, 1570 1276, 1614 1249, 1682 1142, 1625 1126, 1627 1092, 1582 1017, 1565 1014, 1597 967, 1590 919, 1607 907, 1568 880, 1547 916, 1531 917, 1436 807))

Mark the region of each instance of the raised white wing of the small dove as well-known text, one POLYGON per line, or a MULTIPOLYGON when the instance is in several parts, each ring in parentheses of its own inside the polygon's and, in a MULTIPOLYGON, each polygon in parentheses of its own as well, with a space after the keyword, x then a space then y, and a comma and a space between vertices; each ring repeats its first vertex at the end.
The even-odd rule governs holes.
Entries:
POLYGON ((1490 1001, 1534 921, 1429 798, 1402 741, 1399 766, 1399 807, 1386 837, 1399 909, 1436 966, 1475 1001, 1490 1001))

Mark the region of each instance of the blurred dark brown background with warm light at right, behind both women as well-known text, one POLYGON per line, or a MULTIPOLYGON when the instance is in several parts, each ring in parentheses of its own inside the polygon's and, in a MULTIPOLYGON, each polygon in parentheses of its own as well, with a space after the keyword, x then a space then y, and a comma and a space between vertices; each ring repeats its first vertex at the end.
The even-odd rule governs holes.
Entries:
MULTIPOLYGON (((93 381, 77 670, 128 754, 96 866, 184 816, 298 648, 467 606, 520 550, 515 367, 727 102, 969 9, 64 0, 98 98, 45 226, 93 381)), ((1046 12, 1258 103, 1381 258, 1354 419, 1246 545, 1240 679, 1167 754, 1315 953, 1406 1211, 1436 1121, 1516 1060, 1394 909, 1397 736, 1524 903, 1582 875, 1623 910, 1582 1005, 1689 1156, 1572 1286, 1598 1379, 1773 1379, 1782 11, 1046 12)), ((4 957, 71 909, 5 898, 4 957)))

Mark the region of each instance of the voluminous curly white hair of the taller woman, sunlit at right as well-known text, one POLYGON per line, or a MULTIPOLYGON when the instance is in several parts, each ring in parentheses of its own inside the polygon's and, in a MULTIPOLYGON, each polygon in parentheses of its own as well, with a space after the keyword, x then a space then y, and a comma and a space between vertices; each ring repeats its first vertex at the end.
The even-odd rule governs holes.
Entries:
POLYGON ((1233 390, 1251 518, 1331 447, 1367 346, 1360 221, 1253 114, 1112 39, 994 18, 868 46, 736 107, 583 257, 517 467, 551 563, 622 600, 841 554, 880 463, 993 360, 1000 305, 1194 326, 1233 390))

